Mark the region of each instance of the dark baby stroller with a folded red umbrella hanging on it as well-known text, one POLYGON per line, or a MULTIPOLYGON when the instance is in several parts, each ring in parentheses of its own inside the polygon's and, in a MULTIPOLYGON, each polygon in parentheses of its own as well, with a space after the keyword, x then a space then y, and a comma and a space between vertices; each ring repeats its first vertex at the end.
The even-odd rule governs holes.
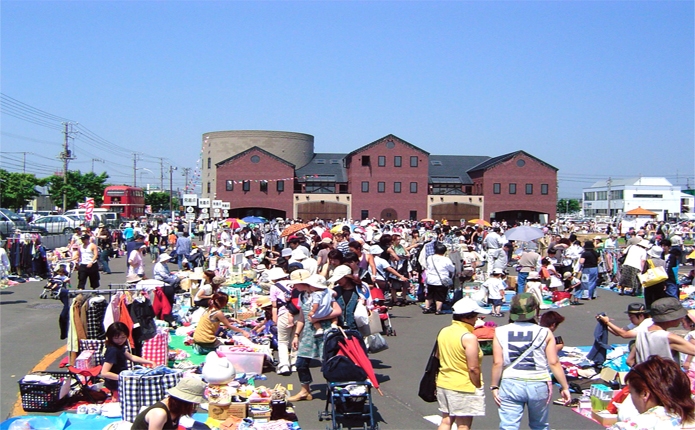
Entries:
MULTIPOLYGON (((363 429, 378 430, 374 418, 372 388, 379 390, 367 348, 356 330, 326 331, 321 366, 326 378, 326 408, 319 411, 319 421, 331 420, 327 430, 339 430, 362 425, 363 429)), ((381 392, 381 391, 379 391, 381 392)))

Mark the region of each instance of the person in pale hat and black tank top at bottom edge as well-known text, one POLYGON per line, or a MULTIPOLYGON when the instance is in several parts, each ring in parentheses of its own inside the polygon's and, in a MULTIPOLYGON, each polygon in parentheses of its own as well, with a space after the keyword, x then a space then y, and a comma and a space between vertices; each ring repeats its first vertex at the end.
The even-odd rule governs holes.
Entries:
POLYGON ((179 419, 191 416, 203 403, 205 382, 196 378, 183 378, 163 400, 143 410, 135 417, 131 430, 177 430, 179 419))

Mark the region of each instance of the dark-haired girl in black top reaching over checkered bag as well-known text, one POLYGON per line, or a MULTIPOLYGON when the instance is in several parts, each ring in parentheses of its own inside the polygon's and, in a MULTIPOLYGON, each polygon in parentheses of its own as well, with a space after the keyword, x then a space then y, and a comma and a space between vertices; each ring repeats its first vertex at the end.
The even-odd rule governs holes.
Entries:
POLYGON ((114 401, 118 401, 118 375, 128 368, 126 360, 148 366, 155 365, 150 360, 135 356, 126 350, 129 336, 130 330, 122 322, 115 322, 106 329, 106 353, 99 376, 104 378, 104 385, 113 393, 114 401))

